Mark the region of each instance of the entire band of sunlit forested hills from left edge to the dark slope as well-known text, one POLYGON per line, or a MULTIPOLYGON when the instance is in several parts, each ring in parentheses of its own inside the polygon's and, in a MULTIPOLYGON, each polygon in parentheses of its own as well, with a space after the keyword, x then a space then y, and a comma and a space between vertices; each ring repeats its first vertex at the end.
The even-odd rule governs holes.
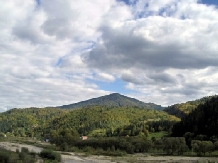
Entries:
POLYGON ((72 129, 80 135, 106 136, 108 130, 111 130, 111 134, 114 134, 114 131, 124 134, 123 130, 129 125, 135 126, 134 128, 138 125, 137 134, 139 134, 143 129, 148 130, 147 122, 154 130, 164 129, 163 121, 170 121, 172 126, 171 122, 179 119, 163 111, 138 107, 87 106, 75 110, 12 109, 0 114, 0 132, 8 136, 46 138, 54 133, 53 131, 72 129), (161 123, 153 127, 151 122, 161 123))

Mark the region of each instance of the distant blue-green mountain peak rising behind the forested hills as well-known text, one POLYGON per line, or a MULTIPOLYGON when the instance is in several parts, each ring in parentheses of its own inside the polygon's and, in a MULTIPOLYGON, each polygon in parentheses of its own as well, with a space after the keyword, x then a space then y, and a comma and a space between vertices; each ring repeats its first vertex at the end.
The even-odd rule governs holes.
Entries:
POLYGON ((135 98, 130 98, 119 93, 112 93, 110 95, 101 96, 98 98, 92 98, 86 101, 81 101, 74 104, 59 106, 61 109, 75 109, 82 108, 86 106, 106 106, 106 107, 139 107, 139 108, 149 108, 155 110, 162 110, 161 105, 156 105, 154 103, 144 103, 135 98))

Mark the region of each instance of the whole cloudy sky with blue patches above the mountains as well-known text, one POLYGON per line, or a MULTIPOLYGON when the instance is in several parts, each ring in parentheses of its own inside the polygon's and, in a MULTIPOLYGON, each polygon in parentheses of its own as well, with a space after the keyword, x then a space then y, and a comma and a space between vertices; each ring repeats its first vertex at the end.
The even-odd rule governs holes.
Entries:
POLYGON ((218 91, 217 0, 1 0, 0 112, 218 91))

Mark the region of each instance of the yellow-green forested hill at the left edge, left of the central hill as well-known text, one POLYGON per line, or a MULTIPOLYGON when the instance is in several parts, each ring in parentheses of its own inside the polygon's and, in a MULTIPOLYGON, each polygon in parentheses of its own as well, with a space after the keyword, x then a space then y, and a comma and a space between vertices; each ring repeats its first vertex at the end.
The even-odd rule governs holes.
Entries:
POLYGON ((54 108, 11 109, 0 114, 0 132, 10 136, 41 137, 53 119, 67 112, 54 108))

